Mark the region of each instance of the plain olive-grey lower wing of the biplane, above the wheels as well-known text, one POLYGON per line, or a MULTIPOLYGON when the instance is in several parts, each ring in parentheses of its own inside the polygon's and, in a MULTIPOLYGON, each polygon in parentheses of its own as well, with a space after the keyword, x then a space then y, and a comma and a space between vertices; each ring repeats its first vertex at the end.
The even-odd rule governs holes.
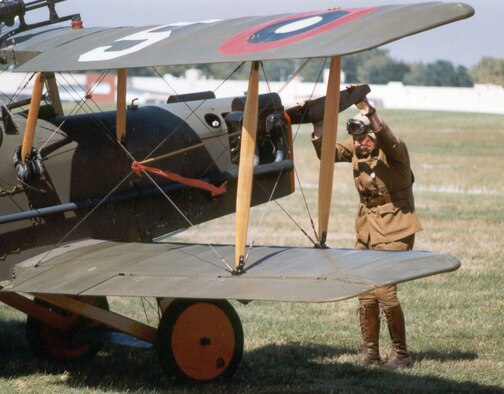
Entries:
POLYGON ((82 241, 18 264, 4 290, 328 302, 460 266, 456 257, 432 252, 256 246, 246 272, 235 276, 221 261, 233 260, 234 246, 213 248, 82 241))

